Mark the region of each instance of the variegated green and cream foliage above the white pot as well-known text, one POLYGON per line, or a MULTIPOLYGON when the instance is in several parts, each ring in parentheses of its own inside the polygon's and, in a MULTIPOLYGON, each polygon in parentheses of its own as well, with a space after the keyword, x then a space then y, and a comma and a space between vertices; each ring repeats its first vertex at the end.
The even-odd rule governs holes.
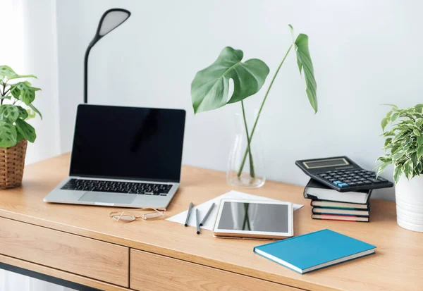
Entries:
POLYGON ((393 180, 398 183, 401 175, 411 179, 423 171, 423 104, 407 109, 386 105, 392 108, 381 122, 386 154, 377 159, 381 162, 376 167, 377 175, 392 164, 393 180), (388 124, 392 125, 391 130, 385 130, 388 124))

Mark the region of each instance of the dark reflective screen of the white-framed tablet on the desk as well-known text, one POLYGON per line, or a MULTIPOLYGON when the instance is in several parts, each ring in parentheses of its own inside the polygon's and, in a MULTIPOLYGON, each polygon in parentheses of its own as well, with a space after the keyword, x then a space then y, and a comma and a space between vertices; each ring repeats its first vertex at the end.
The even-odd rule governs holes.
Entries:
POLYGON ((219 229, 288 233, 288 205, 224 202, 219 229))

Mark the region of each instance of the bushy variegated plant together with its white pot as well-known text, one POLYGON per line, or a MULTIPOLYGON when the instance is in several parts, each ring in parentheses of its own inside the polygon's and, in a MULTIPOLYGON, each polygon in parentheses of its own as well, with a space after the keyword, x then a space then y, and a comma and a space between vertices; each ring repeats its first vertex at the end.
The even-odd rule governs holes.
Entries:
POLYGON ((377 175, 393 165, 397 223, 423 232, 423 104, 407 109, 391 106, 381 122, 386 154, 379 156, 377 175), (386 125, 391 124, 390 130, 386 125))

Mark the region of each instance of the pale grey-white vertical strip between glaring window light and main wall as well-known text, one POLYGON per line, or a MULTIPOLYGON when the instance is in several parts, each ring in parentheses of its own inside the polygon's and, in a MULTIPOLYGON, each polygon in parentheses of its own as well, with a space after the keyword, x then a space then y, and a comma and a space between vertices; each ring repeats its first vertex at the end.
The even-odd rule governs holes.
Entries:
POLYGON ((31 82, 42 88, 34 105, 43 119, 30 120, 37 140, 28 144, 26 162, 33 163, 60 153, 56 1, 23 0, 23 27, 23 73, 37 75, 31 82))

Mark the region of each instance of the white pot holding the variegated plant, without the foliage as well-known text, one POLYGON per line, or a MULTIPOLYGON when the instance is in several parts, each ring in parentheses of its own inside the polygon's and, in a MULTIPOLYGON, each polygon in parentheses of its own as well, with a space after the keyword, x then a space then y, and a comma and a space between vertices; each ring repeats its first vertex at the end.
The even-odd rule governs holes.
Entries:
POLYGON ((395 192, 398 225, 423 232, 423 175, 410 180, 401 177, 395 192))

